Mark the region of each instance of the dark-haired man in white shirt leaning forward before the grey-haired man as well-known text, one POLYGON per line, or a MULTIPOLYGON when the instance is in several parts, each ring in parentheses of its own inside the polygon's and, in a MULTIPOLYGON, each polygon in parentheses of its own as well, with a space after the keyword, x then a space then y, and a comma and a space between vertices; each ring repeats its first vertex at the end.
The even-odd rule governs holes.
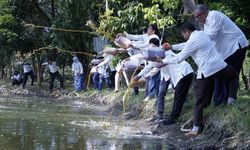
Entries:
POLYGON ((237 71, 223 61, 205 32, 197 31, 190 23, 182 25, 181 32, 184 39, 187 40, 186 43, 170 46, 173 50, 179 48, 178 50, 181 52, 163 59, 162 62, 164 64, 178 64, 191 56, 198 66, 195 83, 194 126, 192 131, 185 134, 188 137, 195 137, 202 132, 204 127, 203 109, 211 102, 214 92, 214 78, 228 79, 230 83, 229 95, 235 97, 237 90, 231 82, 237 78, 237 71))

